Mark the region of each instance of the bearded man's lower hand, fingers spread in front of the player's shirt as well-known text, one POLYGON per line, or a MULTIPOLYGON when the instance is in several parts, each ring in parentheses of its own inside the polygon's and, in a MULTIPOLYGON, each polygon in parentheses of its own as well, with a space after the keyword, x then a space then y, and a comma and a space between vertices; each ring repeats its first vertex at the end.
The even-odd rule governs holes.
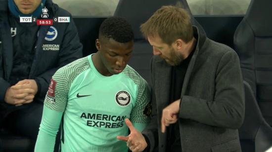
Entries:
POLYGON ((129 119, 126 119, 125 122, 130 128, 131 133, 127 137, 117 136, 117 139, 127 142, 127 146, 132 152, 142 152, 147 147, 143 135, 133 126, 129 119))

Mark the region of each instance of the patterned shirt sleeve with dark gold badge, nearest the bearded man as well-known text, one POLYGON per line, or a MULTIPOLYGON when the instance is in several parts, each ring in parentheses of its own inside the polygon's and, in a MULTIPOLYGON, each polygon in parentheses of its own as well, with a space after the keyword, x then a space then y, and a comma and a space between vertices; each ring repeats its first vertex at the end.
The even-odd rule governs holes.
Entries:
POLYGON ((137 89, 136 104, 131 112, 131 122, 137 130, 142 131, 150 122, 150 114, 150 89, 147 82, 142 79, 137 89))

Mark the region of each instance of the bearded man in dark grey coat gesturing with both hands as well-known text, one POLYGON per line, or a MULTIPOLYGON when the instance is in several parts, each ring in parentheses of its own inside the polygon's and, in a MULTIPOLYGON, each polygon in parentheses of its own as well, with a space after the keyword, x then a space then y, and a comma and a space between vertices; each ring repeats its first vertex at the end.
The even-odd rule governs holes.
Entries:
POLYGON ((241 152, 244 86, 235 51, 175 6, 162 6, 140 29, 153 46, 152 118, 142 134, 131 129, 118 139, 133 152, 241 152))

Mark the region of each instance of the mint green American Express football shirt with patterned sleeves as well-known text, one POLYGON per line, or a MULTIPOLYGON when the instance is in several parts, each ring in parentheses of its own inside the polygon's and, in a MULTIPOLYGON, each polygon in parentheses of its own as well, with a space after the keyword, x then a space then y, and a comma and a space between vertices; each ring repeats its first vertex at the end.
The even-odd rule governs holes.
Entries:
POLYGON ((53 152, 62 116, 62 152, 127 152, 125 119, 142 131, 149 122, 147 82, 130 66, 103 76, 91 55, 60 68, 52 76, 35 152, 53 152))

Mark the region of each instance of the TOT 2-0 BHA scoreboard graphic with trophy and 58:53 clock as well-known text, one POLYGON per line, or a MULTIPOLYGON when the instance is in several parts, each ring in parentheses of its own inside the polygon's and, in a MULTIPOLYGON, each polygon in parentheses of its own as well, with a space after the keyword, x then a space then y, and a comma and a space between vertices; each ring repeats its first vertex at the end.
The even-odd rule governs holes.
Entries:
POLYGON ((38 19, 37 17, 20 17, 21 23, 37 23, 37 25, 53 25, 53 23, 69 23, 70 17, 53 17, 52 19, 48 19, 48 9, 43 8, 42 19, 38 19))

